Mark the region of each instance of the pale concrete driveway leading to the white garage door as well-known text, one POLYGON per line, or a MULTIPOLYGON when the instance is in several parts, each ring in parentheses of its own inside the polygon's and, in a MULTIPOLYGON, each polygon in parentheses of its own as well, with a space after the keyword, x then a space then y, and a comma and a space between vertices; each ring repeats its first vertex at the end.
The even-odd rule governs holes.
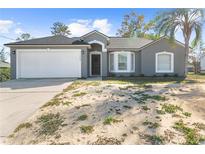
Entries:
POLYGON ((74 79, 22 79, 0 83, 0 143, 74 79))

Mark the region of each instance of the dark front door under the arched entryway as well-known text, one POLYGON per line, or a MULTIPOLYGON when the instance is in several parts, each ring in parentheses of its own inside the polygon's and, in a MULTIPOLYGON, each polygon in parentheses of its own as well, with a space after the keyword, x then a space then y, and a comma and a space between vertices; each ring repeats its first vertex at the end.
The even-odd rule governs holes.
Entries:
POLYGON ((91 55, 91 75, 100 75, 100 54, 92 54, 91 55))

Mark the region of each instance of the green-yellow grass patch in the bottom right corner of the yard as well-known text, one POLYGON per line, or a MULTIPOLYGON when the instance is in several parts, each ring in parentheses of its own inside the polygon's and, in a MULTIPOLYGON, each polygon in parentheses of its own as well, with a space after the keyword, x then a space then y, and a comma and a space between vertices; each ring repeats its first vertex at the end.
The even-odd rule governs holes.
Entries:
POLYGON ((185 144, 192 144, 196 145, 199 144, 203 137, 198 133, 198 131, 194 128, 188 127, 183 120, 179 120, 175 122, 174 129, 182 132, 185 135, 186 143, 185 144))

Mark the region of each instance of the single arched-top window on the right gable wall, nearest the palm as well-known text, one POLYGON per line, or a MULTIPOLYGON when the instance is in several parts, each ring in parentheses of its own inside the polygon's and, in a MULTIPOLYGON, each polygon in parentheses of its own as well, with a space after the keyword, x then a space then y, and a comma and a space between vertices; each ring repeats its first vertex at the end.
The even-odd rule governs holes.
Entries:
POLYGON ((156 53, 156 72, 172 73, 174 70, 174 56, 170 52, 156 53))

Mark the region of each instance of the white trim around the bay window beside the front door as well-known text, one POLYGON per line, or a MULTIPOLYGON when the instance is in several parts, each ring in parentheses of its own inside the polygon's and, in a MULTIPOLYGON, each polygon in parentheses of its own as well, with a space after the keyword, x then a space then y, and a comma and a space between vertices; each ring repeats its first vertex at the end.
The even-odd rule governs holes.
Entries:
POLYGON ((131 51, 115 51, 109 53, 109 72, 111 73, 133 73, 135 72, 135 53, 131 51), (118 69, 118 54, 126 53, 127 54, 127 70, 119 70, 118 69), (110 55, 114 55, 114 70, 110 70, 110 55), (134 55, 133 59, 133 70, 131 70, 131 55, 134 55))

